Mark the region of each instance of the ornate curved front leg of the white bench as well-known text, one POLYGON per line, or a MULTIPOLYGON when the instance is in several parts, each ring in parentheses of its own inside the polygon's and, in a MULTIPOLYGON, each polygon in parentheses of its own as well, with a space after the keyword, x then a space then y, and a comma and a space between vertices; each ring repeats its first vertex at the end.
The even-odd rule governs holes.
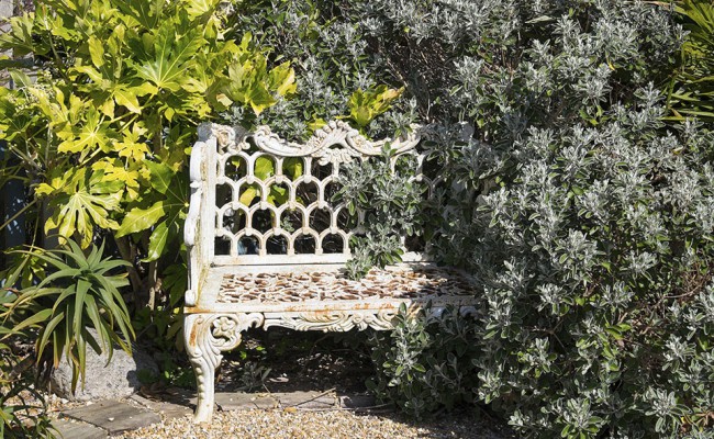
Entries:
POLYGON ((221 364, 221 352, 241 344, 241 333, 263 325, 260 313, 188 314, 183 320, 186 350, 196 374, 198 402, 194 423, 208 423, 213 416, 215 369, 221 364))

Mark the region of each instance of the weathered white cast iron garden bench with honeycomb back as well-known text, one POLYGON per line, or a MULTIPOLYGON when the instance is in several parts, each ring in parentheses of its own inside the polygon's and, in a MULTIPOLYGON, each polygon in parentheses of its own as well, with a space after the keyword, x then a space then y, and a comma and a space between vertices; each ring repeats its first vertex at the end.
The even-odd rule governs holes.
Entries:
MULTIPOLYGON (((350 216, 333 200, 336 179, 345 164, 381 155, 386 142, 367 140, 344 122, 331 122, 305 144, 282 140, 267 127, 199 127, 185 228, 183 335, 197 378, 196 421, 211 419, 222 352, 237 347, 250 327, 390 329, 402 304, 472 309, 472 281, 428 262, 426 251, 406 252, 404 263, 360 281, 341 271, 365 215, 350 216)), ((419 142, 412 133, 391 147, 394 159, 416 158, 415 179, 424 181, 427 198, 439 179, 423 172, 419 142)))

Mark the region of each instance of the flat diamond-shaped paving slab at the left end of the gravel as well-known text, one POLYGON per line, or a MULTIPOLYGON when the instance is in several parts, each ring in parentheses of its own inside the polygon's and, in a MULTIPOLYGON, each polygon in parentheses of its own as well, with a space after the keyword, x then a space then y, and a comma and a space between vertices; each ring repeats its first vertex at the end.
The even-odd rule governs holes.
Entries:
POLYGON ((62 414, 101 427, 109 431, 110 435, 161 421, 161 417, 154 412, 114 399, 100 401, 62 414))

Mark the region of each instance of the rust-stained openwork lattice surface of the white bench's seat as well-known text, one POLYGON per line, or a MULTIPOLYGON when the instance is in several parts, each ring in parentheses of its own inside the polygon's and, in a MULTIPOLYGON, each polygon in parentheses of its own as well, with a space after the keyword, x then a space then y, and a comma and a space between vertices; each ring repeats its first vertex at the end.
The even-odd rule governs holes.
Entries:
POLYGON ((359 281, 339 272, 224 274, 219 303, 278 304, 312 301, 468 297, 469 278, 456 270, 371 270, 359 281))

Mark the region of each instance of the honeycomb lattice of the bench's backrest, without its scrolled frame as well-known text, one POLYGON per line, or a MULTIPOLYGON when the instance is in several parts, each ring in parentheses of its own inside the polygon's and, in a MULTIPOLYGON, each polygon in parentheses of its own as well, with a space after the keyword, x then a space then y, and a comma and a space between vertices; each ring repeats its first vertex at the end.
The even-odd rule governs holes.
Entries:
POLYGON ((337 190, 339 167, 314 165, 311 157, 286 159, 265 153, 220 157, 216 236, 232 241, 231 256, 241 250, 259 256, 349 252, 352 230, 346 227, 356 226, 359 214, 348 217, 345 205, 331 200, 337 190), (287 160, 290 166, 299 164, 302 175, 294 179, 287 176, 287 160), (238 172, 226 172, 236 162, 238 172), (272 171, 259 178, 256 173, 265 172, 260 167, 272 171), (328 240, 332 248, 326 248, 328 240), (304 249, 300 248, 302 243, 306 243, 304 249))

